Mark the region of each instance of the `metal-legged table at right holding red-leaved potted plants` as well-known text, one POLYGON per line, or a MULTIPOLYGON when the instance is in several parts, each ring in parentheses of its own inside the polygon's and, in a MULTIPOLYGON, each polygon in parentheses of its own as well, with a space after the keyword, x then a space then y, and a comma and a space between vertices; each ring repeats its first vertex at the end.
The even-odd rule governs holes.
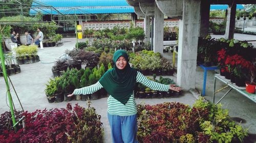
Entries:
POLYGON ((218 104, 231 90, 236 90, 237 92, 241 93, 243 96, 249 98, 251 101, 256 103, 256 95, 255 94, 247 93, 245 91, 245 87, 238 87, 236 84, 230 82, 229 79, 226 79, 224 76, 221 76, 220 74, 215 74, 215 76, 214 76, 214 92, 213 92, 212 103, 215 103, 215 94, 227 87, 230 87, 230 89, 221 97, 221 99, 216 104, 218 104), (224 88, 216 91, 216 79, 225 83, 226 86, 224 88))

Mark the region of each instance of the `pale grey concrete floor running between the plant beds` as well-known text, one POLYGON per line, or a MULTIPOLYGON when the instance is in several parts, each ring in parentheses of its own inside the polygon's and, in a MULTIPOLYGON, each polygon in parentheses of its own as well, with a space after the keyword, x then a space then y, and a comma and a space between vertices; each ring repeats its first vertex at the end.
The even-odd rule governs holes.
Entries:
MULTIPOLYGON (((15 90, 25 110, 34 111, 36 109, 45 108, 66 108, 67 102, 48 103, 44 92, 44 89, 46 87, 45 84, 47 83, 47 81, 49 81, 49 78, 53 78, 51 72, 51 68, 54 65, 53 62, 60 56, 63 56, 63 53, 66 49, 72 49, 76 42, 75 38, 65 38, 62 41, 63 46, 61 47, 46 47, 45 49, 39 49, 38 55, 40 56, 40 62, 20 65, 22 72, 10 76, 12 83, 14 84, 15 90)), ((84 41, 84 39, 81 39, 79 41, 84 41)), ((164 54, 164 56, 169 60, 172 59, 172 55, 173 53, 164 54)), ((209 71, 207 75, 207 87, 205 97, 209 101, 211 101, 212 98, 211 95, 213 89, 213 75, 214 72, 212 71, 209 71)), ((200 67, 197 68, 196 76, 196 88, 198 89, 198 91, 202 91, 203 70, 200 67)), ((176 80, 176 74, 174 74, 174 76, 172 76, 171 78, 176 80)), ((221 86, 223 86, 223 84, 221 82, 217 82, 217 89, 220 89, 221 86)), ((224 94, 224 91, 217 94, 216 100, 220 98, 220 94, 224 94)), ((20 110, 21 108, 18 104, 17 98, 12 88, 11 94, 13 96, 16 109, 20 110)), ((3 77, 0 77, 0 96, 2 97, 2 100, 0 100, 0 113, 9 111, 9 107, 7 105, 8 100, 6 98, 7 96, 5 82, 3 77)), ((92 100, 92 106, 95 107, 97 113, 101 115, 101 122, 103 123, 104 128, 104 142, 112 142, 110 126, 106 116, 106 100, 107 98, 92 100)), ((193 96, 193 94, 191 94, 190 92, 184 92, 182 96, 176 98, 137 99, 136 101, 137 103, 144 102, 145 104, 151 105, 163 102, 181 102, 191 106, 193 105, 195 100, 196 98, 193 96)), ((75 105, 75 103, 79 103, 79 105, 87 107, 87 102, 84 101, 71 101, 70 103, 72 103, 73 105, 75 105)), ((253 139, 256 134, 256 104, 234 91, 229 93, 229 95, 225 97, 225 99, 223 99, 221 103, 223 104, 223 108, 229 109, 229 115, 231 117, 239 117, 246 120, 246 123, 242 124, 242 126, 246 128, 249 127, 249 133, 252 134, 251 138, 253 139)))

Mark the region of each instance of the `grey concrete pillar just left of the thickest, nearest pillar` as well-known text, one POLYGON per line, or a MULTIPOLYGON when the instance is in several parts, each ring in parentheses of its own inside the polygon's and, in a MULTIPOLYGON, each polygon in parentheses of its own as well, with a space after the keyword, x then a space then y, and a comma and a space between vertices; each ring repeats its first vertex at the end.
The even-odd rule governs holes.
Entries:
POLYGON ((154 52, 159 52, 161 54, 163 54, 163 16, 164 14, 155 4, 153 48, 154 52))

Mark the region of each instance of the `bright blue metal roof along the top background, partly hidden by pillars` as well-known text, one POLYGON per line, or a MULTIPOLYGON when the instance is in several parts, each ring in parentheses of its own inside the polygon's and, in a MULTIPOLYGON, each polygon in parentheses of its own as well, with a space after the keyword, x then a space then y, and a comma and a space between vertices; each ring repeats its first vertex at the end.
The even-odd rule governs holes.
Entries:
MULTIPOLYGON (((30 14, 39 11, 42 14, 58 14, 50 8, 36 8, 39 3, 50 5, 62 14, 100 14, 100 13, 134 13, 134 7, 130 6, 126 0, 34 0, 30 14)), ((210 10, 225 10, 228 5, 210 5, 210 10)), ((237 9, 243 9, 242 5, 237 5, 237 9)))

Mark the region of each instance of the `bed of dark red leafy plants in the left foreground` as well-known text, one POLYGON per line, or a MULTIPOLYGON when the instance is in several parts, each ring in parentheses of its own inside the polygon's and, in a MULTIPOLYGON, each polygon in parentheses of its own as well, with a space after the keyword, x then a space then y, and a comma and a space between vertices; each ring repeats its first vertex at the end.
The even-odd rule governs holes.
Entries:
POLYGON ((15 133, 10 112, 0 119, 0 142, 102 142, 103 128, 100 116, 93 107, 76 104, 67 109, 55 108, 25 113, 16 112, 19 119, 25 116, 26 128, 17 126, 15 133))

